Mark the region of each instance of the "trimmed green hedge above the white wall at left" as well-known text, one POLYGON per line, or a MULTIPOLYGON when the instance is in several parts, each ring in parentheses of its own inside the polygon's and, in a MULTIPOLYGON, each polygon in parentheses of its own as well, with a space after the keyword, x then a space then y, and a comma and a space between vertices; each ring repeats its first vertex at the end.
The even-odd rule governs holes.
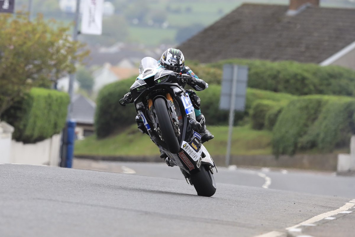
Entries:
POLYGON ((42 141, 64 128, 69 101, 67 93, 32 88, 21 102, 2 114, 2 119, 15 127, 12 137, 16 141, 42 141))

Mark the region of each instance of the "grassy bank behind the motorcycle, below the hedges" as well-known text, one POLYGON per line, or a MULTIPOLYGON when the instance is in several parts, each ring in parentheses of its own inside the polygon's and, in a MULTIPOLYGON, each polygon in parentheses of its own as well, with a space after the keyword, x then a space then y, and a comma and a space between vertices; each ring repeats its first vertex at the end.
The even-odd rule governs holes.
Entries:
MULTIPOLYGON (((211 155, 225 155, 228 126, 208 126, 215 138, 204 143, 211 155)), ((132 125, 122 133, 97 140, 90 136, 75 144, 75 155, 151 156, 159 149, 145 134, 132 125)), ((252 130, 249 126, 234 127, 232 155, 270 155, 271 132, 252 130)))

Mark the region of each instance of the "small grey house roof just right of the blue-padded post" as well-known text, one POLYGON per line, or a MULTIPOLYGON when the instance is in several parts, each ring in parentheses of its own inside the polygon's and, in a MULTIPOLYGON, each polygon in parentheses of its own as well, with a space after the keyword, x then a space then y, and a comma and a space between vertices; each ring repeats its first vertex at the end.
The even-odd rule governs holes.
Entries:
POLYGON ((73 119, 77 123, 94 124, 96 104, 82 95, 73 96, 73 119))

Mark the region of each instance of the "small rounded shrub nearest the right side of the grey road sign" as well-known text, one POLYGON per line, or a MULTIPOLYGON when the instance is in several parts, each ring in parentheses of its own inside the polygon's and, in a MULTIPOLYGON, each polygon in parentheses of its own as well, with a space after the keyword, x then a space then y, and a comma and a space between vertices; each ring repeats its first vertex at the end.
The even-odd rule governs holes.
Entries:
POLYGON ((278 102, 268 99, 260 99, 255 101, 250 111, 252 128, 262 130, 266 122, 267 113, 274 108, 279 108, 278 102))

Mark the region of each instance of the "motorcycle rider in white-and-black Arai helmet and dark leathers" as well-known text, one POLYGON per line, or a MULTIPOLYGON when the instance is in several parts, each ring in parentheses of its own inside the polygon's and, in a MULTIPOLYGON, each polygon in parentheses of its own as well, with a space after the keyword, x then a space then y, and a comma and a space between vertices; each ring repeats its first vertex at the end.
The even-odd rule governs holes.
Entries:
MULTIPOLYGON (((185 79, 185 82, 182 86, 185 87, 186 84, 190 85, 192 88, 194 88, 196 91, 202 91, 206 88, 208 88, 208 84, 203 81, 202 79, 199 79, 197 75, 193 73, 193 71, 188 67, 185 66, 185 58, 182 52, 179 49, 173 49, 170 48, 166 50, 160 60, 158 61, 160 64, 160 67, 182 73, 180 77, 185 79), (172 60, 173 59, 173 60, 172 60), (185 74, 185 75, 184 75, 185 74)), ((201 123, 202 128, 200 130, 201 136, 202 136, 202 142, 209 141, 214 138, 214 136, 207 130, 206 128, 206 121, 204 119, 203 114, 201 113, 200 109, 200 97, 196 95, 196 92, 193 90, 186 90, 186 92, 189 94, 189 97, 191 99, 193 108, 195 109, 195 115, 196 115, 196 120, 197 122, 201 123)), ((132 95, 130 92, 128 92, 126 95, 124 95, 123 100, 126 104, 132 103, 132 95)), ((138 124, 138 128, 145 133, 145 126, 142 122, 142 119, 140 118, 140 115, 138 114, 136 117, 136 121, 138 124), (143 130, 144 129, 144 130, 143 130)), ((160 157, 165 158, 166 154, 161 151, 160 157)))

